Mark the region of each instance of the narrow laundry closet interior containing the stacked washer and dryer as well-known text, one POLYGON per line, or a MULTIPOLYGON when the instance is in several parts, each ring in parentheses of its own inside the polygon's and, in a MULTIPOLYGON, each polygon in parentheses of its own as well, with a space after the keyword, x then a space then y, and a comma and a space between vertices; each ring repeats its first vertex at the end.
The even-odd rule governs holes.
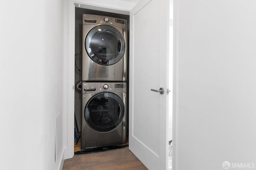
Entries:
POLYGON ((128 15, 75 8, 75 152, 128 144, 128 37, 128 15))

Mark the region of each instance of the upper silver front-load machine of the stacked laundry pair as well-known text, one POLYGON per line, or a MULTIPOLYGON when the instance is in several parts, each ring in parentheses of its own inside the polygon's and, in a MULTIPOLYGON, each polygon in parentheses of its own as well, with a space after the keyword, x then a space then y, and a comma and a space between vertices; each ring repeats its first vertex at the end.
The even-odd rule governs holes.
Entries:
POLYGON ((127 20, 83 14, 82 81, 126 81, 127 20))

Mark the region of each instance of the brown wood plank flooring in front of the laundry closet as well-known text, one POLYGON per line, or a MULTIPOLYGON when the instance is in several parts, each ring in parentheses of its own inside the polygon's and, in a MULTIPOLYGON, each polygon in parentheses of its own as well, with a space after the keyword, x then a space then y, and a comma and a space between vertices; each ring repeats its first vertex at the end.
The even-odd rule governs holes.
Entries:
POLYGON ((78 154, 64 161, 63 170, 148 170, 128 147, 78 154))

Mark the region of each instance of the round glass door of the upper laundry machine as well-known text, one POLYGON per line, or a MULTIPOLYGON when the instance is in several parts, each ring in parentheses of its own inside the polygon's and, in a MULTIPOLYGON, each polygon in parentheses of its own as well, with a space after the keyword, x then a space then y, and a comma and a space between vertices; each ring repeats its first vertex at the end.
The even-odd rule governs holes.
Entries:
POLYGON ((125 40, 116 28, 99 25, 91 29, 86 36, 85 49, 96 63, 112 65, 124 56, 125 40))

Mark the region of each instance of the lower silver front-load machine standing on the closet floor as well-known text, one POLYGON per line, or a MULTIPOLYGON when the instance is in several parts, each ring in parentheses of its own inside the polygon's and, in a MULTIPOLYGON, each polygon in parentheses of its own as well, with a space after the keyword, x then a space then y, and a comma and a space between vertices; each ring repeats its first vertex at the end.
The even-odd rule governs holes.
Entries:
POLYGON ((126 143, 126 83, 82 82, 81 149, 126 143))

